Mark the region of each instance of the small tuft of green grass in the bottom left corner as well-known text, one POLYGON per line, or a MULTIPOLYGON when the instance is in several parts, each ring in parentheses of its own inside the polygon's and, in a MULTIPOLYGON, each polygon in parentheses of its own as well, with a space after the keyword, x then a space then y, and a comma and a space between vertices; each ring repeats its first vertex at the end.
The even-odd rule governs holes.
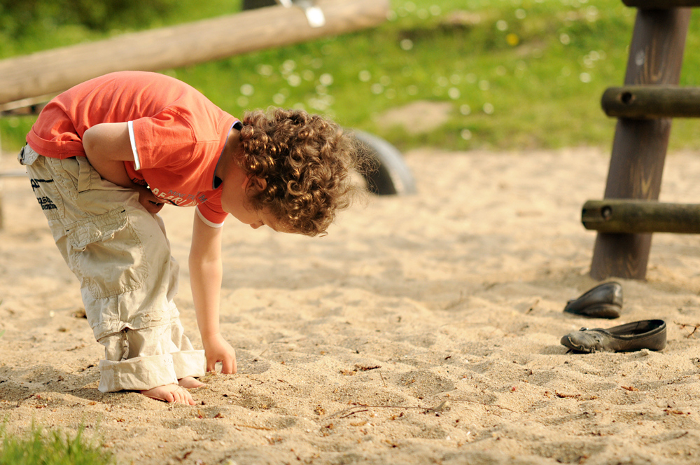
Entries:
POLYGON ((87 440, 81 426, 71 438, 61 431, 45 433, 41 426, 32 424, 24 436, 6 433, 0 426, 0 465, 107 465, 113 456, 101 445, 87 440))

